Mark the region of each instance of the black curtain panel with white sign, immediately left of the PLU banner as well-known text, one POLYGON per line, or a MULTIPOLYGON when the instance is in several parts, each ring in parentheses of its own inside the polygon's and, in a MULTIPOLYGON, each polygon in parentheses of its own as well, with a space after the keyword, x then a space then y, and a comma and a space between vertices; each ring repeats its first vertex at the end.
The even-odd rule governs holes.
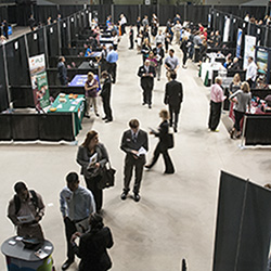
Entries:
POLYGON ((5 44, 10 86, 30 86, 28 60, 24 36, 5 44), (15 48, 17 47, 17 49, 15 48))

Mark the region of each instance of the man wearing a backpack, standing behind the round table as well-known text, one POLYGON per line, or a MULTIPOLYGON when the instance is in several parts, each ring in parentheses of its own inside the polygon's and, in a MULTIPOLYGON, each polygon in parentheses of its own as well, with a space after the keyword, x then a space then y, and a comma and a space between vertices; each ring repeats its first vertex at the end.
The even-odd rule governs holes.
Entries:
POLYGON ((17 235, 44 240, 39 224, 46 209, 41 195, 28 190, 22 181, 15 183, 14 191, 16 194, 9 203, 8 218, 16 227, 17 235), (27 217, 27 221, 24 222, 23 217, 27 217))

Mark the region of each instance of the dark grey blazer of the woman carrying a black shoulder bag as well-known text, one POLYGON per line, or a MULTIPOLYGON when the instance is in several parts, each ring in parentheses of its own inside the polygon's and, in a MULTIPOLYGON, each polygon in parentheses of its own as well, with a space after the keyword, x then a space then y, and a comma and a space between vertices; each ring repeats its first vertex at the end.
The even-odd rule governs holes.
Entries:
MULTIPOLYGON (((102 143, 98 143, 95 146, 95 152, 98 154, 96 162, 100 163, 100 169, 105 166, 105 164, 109 160, 107 151, 102 143)), ((88 147, 82 145, 79 146, 77 152, 76 162, 81 166, 81 175, 85 178, 89 179, 100 175, 100 170, 90 171, 88 170, 89 159, 92 156, 88 147)))

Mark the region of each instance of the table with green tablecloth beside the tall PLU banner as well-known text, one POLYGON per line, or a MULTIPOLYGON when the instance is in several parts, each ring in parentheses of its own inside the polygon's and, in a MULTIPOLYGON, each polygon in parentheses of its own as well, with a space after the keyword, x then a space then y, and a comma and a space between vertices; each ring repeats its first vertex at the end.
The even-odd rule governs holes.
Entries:
POLYGON ((49 113, 51 114, 57 112, 73 113, 73 125, 70 128, 76 137, 81 130, 81 121, 85 112, 85 95, 68 94, 64 96, 63 94, 59 94, 49 108, 49 113), (65 102, 62 102, 62 99, 65 99, 65 102), (56 108, 56 111, 51 112, 51 108, 56 108))

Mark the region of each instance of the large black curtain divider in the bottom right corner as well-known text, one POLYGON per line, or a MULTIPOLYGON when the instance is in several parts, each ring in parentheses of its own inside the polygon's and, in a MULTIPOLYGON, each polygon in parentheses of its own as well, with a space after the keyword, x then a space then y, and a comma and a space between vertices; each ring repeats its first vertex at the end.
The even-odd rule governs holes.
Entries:
POLYGON ((267 270, 271 192, 221 172, 212 271, 267 270))

